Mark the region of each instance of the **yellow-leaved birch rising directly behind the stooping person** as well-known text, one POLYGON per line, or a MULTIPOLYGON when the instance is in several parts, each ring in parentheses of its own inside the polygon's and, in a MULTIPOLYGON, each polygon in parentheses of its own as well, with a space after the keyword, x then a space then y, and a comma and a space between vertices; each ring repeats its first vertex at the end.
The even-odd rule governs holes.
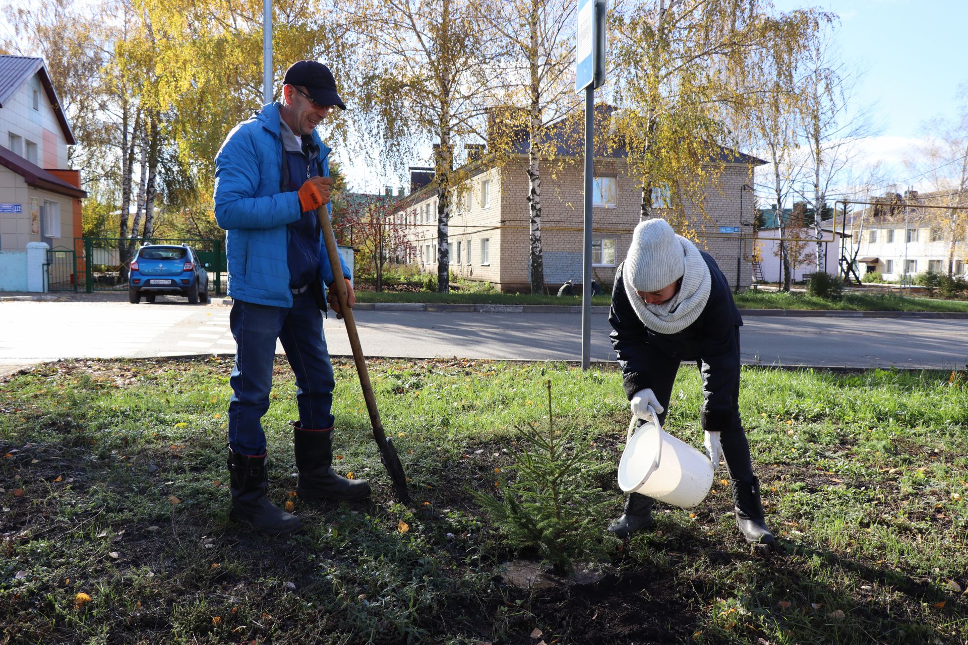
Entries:
MULTIPOLYGON (((724 113, 743 103, 750 53, 775 37, 760 0, 652 0, 620 5, 609 20, 614 43, 613 145, 641 178, 640 218, 656 194, 663 216, 683 229, 685 204, 705 212, 705 191, 722 171, 732 140, 724 113)), ((610 73, 613 71, 610 70, 610 73)))

